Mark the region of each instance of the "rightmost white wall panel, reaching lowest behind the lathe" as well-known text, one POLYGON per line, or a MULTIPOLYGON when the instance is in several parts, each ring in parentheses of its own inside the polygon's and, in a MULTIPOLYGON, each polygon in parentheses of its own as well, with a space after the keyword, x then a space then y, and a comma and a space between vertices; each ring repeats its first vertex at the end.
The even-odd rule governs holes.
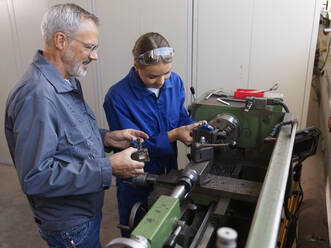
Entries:
POLYGON ((306 79, 314 17, 311 0, 256 0, 253 15, 249 87, 266 89, 277 81, 300 124, 305 123, 303 105, 309 100, 305 90, 311 83, 306 79))

